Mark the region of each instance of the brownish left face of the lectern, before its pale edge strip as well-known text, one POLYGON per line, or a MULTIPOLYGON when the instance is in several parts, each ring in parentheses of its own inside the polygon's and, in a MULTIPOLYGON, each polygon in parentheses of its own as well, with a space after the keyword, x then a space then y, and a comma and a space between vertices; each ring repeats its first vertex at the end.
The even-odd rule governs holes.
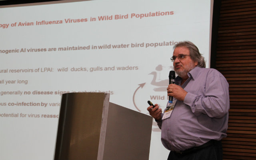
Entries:
POLYGON ((97 159, 105 96, 104 93, 62 95, 54 159, 97 159))

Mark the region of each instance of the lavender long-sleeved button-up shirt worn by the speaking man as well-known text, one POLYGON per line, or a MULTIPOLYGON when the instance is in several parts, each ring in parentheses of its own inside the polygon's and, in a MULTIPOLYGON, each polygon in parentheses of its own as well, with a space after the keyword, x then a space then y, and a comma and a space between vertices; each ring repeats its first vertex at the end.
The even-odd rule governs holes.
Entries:
MULTIPOLYGON (((169 118, 157 121, 162 144, 168 150, 182 151, 211 139, 221 140, 228 129, 229 92, 226 78, 212 68, 195 67, 182 88, 184 101, 176 101, 169 118)), ((181 78, 175 82, 180 85, 181 78)))

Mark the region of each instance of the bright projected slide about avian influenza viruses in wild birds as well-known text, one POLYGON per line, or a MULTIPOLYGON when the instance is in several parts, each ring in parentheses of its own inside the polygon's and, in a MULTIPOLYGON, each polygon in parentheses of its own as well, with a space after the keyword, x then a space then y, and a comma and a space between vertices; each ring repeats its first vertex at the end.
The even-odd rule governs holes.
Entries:
MULTIPOLYGON (((144 114, 148 100, 164 109, 173 45, 192 41, 209 66, 209 39, 207 0, 0 8, 0 159, 53 158, 63 93, 109 93, 144 114)), ((150 159, 168 152, 153 122, 150 159)))

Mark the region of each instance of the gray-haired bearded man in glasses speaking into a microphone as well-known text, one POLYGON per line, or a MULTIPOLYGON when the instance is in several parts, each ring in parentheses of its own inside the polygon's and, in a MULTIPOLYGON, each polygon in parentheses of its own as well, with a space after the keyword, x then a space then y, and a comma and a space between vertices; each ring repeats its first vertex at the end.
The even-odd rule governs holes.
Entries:
POLYGON ((204 57, 190 41, 175 45, 171 60, 178 76, 167 95, 174 98, 174 108, 168 104, 163 114, 157 104, 148 107, 170 150, 168 160, 222 160, 220 140, 226 137, 229 109, 226 78, 205 68, 204 57))

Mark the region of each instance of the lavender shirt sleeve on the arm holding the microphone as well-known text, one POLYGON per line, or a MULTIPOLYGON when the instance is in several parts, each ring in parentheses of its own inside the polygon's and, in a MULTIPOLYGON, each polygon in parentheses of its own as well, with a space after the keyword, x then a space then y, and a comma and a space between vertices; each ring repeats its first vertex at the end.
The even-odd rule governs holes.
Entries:
POLYGON ((223 117, 229 109, 229 92, 226 78, 217 70, 210 70, 204 84, 205 88, 201 94, 188 92, 184 103, 191 108, 196 116, 203 113, 209 117, 223 117))

